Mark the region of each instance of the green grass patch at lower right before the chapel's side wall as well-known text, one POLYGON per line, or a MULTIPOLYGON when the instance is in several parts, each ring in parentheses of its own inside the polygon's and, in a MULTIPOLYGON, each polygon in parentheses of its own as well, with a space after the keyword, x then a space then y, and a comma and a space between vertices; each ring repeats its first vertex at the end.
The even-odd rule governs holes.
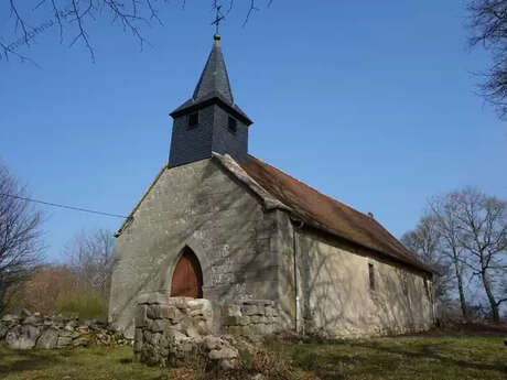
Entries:
POLYGON ((392 337, 280 348, 323 380, 507 379, 500 337, 392 337))

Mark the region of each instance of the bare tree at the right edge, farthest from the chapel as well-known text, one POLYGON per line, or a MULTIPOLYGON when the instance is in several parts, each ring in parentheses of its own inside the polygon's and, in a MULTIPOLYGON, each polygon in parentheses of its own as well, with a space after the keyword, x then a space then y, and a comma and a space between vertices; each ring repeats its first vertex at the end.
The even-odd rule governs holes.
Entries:
POLYGON ((507 274, 507 202, 467 188, 455 193, 460 245, 468 254, 466 264, 479 275, 494 322, 499 321, 499 306, 507 297, 501 281, 507 274))

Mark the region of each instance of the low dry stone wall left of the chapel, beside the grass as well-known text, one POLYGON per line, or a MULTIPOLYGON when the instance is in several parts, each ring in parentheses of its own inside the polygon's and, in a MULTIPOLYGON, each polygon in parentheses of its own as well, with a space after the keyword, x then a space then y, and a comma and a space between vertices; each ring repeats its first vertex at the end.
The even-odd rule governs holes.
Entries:
POLYGON ((12 349, 54 349, 88 345, 131 345, 132 340, 110 329, 105 322, 78 317, 44 316, 23 311, 0 319, 0 343, 12 349))

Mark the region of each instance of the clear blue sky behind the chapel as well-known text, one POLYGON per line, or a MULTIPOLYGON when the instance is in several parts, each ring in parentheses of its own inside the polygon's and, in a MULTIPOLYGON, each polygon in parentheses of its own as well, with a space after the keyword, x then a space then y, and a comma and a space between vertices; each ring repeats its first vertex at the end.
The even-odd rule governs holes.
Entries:
MULTIPOLYGON (((462 1, 278 1, 222 28, 250 153, 371 211, 400 237, 429 196, 477 186, 507 197, 507 126, 474 91, 488 56, 466 47, 462 1)), ((0 61, 0 158, 33 197, 128 214, 169 154, 169 112, 212 47, 207 2, 165 6, 142 52, 118 25, 90 24, 96 63, 48 29, 0 61)), ((33 25, 44 20, 33 22, 33 25)), ((0 36, 15 41, 8 14, 0 36)), ((47 258, 82 229, 121 220, 44 208, 47 258)))

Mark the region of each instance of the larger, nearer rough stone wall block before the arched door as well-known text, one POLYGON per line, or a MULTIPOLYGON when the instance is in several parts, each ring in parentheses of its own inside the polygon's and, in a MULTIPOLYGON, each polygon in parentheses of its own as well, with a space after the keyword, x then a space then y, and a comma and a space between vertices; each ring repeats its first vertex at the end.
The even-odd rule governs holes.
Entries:
POLYGON ((204 360, 234 368, 238 350, 227 338, 213 336, 212 325, 208 300, 142 294, 136 307, 136 360, 161 367, 204 360))

